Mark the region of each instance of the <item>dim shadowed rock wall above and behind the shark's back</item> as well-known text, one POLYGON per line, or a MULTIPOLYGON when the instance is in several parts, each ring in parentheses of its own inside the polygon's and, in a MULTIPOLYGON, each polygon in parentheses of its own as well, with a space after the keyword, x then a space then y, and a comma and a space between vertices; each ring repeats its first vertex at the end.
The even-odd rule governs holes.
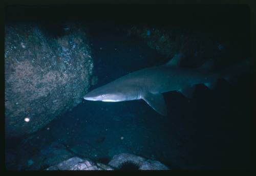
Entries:
MULTIPOLYGON (((217 27, 216 27, 217 28, 217 27)), ((182 27, 150 27, 133 25, 127 29, 117 28, 128 36, 141 38, 148 47, 156 50, 164 57, 171 59, 175 54, 183 54, 182 66, 200 67, 205 61, 214 59, 216 62, 236 62, 244 59, 246 52, 246 34, 244 31, 230 32, 221 26, 215 30, 182 27), (221 31, 221 32, 220 32, 221 31), (244 46, 241 46, 242 42, 244 46)))

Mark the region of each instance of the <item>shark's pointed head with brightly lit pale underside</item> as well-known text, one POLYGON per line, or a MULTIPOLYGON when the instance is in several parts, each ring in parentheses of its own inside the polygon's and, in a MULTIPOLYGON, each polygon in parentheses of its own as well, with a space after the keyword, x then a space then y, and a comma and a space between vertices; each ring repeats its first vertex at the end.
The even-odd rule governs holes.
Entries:
POLYGON ((133 92, 130 92, 129 89, 125 89, 120 86, 112 86, 111 83, 98 87, 83 96, 83 99, 85 100, 106 102, 127 101, 134 100, 136 98, 137 97, 135 97, 133 92))

